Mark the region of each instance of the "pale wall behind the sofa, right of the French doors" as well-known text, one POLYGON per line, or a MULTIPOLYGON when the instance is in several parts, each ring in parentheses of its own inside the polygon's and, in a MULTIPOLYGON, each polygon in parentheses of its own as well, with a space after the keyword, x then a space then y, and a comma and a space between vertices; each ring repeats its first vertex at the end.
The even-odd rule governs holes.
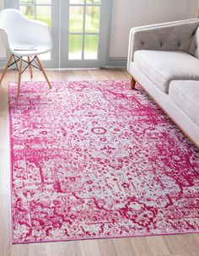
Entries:
POLYGON ((110 57, 126 57, 130 28, 196 17, 197 0, 113 0, 110 57))

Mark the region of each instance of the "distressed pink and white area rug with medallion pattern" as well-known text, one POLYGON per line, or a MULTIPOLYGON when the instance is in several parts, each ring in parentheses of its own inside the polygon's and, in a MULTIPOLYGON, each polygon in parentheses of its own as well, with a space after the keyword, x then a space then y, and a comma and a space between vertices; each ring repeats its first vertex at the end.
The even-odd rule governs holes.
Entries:
POLYGON ((9 84, 13 243, 199 231, 199 151, 126 81, 9 84))

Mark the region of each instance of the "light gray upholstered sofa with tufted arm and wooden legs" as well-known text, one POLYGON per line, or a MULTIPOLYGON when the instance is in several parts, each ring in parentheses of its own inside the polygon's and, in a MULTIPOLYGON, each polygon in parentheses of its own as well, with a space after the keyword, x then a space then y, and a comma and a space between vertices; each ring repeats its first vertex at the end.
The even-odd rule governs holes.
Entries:
POLYGON ((199 147, 199 19, 132 28, 127 70, 199 147))

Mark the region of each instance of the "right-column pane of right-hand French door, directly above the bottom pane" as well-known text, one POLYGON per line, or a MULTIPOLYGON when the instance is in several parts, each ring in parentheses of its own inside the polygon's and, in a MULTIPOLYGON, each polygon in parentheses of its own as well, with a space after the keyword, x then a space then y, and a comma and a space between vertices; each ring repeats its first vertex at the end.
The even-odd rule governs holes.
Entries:
POLYGON ((85 31, 91 33, 98 33, 100 30, 100 7, 88 6, 86 7, 86 25, 85 31))

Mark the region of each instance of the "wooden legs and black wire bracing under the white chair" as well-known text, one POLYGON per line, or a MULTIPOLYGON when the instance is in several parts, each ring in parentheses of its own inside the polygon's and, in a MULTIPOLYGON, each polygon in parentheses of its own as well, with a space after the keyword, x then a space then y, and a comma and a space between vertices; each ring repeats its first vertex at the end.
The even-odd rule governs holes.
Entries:
POLYGON ((2 74, 1 79, 0 79, 0 84, 2 83, 3 77, 6 74, 8 68, 15 65, 17 70, 18 70, 18 95, 20 94, 21 75, 24 73, 24 71, 27 68, 29 68, 30 69, 30 78, 32 79, 32 77, 33 77, 32 67, 40 69, 40 71, 42 72, 42 74, 44 75, 44 77, 46 79, 47 84, 49 85, 49 88, 51 89, 51 83, 50 83, 49 79, 46 76, 46 72, 45 72, 44 68, 42 67, 42 65, 40 63, 39 57, 37 55, 35 55, 34 57, 28 56, 27 58, 28 58, 28 60, 26 61, 26 60, 23 59, 23 57, 19 57, 19 56, 16 56, 16 55, 12 54, 9 57, 8 63, 6 64, 5 68, 3 69, 3 74, 2 74), (12 60, 13 60, 13 62, 12 62, 12 60), (23 63, 26 64, 24 69, 22 68, 23 63))

